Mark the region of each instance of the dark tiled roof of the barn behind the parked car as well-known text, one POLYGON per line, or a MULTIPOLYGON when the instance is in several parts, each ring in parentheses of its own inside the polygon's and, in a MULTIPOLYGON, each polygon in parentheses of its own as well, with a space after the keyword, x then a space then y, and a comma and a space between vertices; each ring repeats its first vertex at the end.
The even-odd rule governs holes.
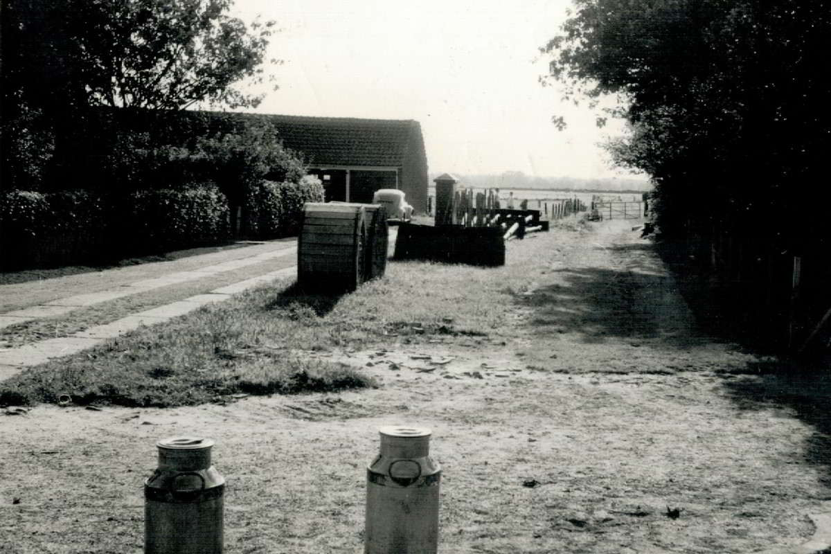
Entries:
POLYGON ((277 126, 283 145, 320 165, 399 166, 404 163, 414 120, 362 120, 347 117, 263 115, 277 126))

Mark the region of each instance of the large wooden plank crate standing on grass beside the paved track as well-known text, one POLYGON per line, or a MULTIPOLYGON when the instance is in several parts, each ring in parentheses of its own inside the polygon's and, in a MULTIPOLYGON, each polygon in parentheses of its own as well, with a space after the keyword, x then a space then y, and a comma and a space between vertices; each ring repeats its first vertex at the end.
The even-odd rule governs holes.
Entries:
POLYGON ((297 241, 297 282, 354 291, 386 268, 386 213, 380 204, 307 203, 297 241))

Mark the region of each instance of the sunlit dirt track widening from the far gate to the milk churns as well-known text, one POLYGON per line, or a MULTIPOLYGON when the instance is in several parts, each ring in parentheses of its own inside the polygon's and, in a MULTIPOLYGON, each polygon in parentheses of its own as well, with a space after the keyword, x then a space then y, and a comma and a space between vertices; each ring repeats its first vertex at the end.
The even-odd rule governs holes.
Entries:
POLYGON ((400 423, 434 432, 440 552, 738 554, 811 536, 807 515, 831 511, 827 380, 760 374, 702 335, 627 223, 509 246, 509 263, 543 254, 518 268, 533 278, 504 330, 331 354, 376 390, 0 416, 0 552, 140 552, 142 480, 175 434, 217 440, 226 552, 361 552, 364 468, 377 427, 400 423))

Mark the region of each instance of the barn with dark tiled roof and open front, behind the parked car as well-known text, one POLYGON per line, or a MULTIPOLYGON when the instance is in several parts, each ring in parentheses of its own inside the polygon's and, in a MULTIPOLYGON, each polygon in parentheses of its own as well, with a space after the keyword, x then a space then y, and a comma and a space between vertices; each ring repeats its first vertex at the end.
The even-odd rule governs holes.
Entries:
POLYGON ((370 203, 378 189, 400 189, 417 212, 427 210, 427 157, 414 120, 261 115, 283 145, 302 152, 326 199, 370 203))

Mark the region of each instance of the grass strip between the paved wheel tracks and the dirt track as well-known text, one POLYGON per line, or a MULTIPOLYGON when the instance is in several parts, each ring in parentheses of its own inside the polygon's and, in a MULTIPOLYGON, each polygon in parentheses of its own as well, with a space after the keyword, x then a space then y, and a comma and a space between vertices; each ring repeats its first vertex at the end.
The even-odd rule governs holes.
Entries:
POLYGON ((509 244, 505 267, 390 262, 386 276, 345 296, 270 285, 143 327, 0 383, 0 405, 57 402, 176 406, 227 395, 296 394, 373 386, 315 352, 470 337, 498 340, 505 315, 534 279, 543 241, 509 244))

